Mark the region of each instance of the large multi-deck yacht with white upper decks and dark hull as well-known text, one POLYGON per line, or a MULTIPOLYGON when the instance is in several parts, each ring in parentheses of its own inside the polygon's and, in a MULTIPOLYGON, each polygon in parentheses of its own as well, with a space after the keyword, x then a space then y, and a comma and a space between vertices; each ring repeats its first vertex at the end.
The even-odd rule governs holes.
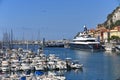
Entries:
POLYGON ((79 32, 74 39, 70 42, 69 46, 71 49, 79 50, 104 50, 104 47, 100 42, 88 34, 86 26, 84 26, 84 31, 79 32))

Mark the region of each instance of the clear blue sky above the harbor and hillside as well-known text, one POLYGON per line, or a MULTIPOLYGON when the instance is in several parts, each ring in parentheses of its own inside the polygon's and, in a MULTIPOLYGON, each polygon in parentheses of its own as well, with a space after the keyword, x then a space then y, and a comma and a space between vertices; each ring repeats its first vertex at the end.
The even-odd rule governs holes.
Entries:
POLYGON ((77 32, 103 23, 120 0, 0 0, 0 40, 72 39, 77 32))

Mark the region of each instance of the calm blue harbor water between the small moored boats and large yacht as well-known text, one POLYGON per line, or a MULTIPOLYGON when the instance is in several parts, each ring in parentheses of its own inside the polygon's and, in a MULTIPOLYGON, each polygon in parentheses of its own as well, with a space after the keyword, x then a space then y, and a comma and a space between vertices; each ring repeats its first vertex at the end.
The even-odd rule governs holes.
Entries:
MULTIPOLYGON (((20 46, 15 46, 15 48, 20 46)), ((25 46, 22 46, 26 48, 25 46)), ((38 46, 29 46, 36 51, 38 46)), ((63 71, 67 80, 119 80, 120 55, 112 52, 92 52, 69 48, 44 48, 44 53, 55 54, 61 59, 71 58, 83 64, 83 69, 63 71)))

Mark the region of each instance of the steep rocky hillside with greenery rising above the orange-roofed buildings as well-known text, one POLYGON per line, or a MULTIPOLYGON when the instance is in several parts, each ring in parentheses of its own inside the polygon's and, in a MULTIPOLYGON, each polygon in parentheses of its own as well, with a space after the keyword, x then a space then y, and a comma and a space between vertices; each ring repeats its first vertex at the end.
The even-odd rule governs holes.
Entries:
POLYGON ((107 20, 103 24, 98 24, 98 26, 104 26, 110 29, 115 26, 120 26, 120 6, 108 14, 107 20))

